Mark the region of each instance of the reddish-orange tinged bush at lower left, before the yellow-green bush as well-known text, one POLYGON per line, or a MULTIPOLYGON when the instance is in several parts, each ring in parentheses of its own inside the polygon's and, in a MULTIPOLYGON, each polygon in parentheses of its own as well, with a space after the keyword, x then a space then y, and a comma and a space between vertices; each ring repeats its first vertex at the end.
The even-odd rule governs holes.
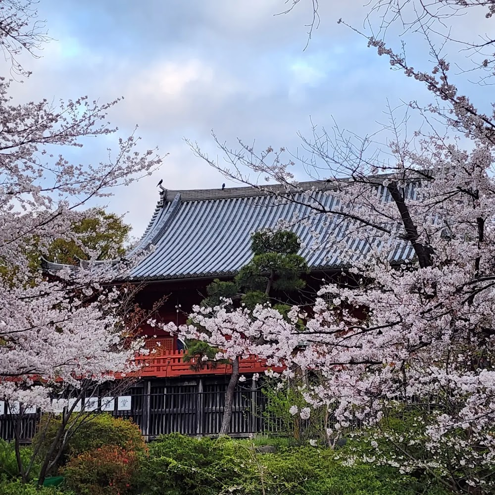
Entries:
POLYGON ((103 446, 72 458, 62 474, 77 495, 136 493, 138 454, 118 446, 103 446))

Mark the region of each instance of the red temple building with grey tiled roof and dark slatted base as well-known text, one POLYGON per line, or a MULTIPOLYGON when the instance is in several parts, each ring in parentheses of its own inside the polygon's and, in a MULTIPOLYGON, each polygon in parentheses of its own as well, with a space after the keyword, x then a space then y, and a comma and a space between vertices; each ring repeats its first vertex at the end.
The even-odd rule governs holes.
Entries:
MULTIPOLYGON (((338 281, 349 259, 359 256, 368 245, 355 241, 343 256, 339 248, 319 244, 330 233, 345 235, 345 222, 329 214, 339 207, 338 200, 324 181, 299 183, 298 188, 173 191, 160 187, 151 220, 135 249, 153 248, 121 282, 143 284, 137 302, 144 309, 166 296, 158 319, 181 325, 193 304, 205 297, 206 286, 213 279, 230 280, 249 262, 253 232, 283 227, 297 234, 299 254, 309 267, 306 288, 294 302, 311 303, 322 281, 338 281)), ((410 257, 411 249, 405 244, 397 247, 392 261, 410 257)), ((45 270, 52 275, 61 268, 63 265, 45 262, 45 270)), ((205 364, 198 369, 184 362, 184 345, 176 336, 146 326, 142 332, 150 336, 148 346, 157 351, 139 358, 143 366, 139 381, 126 393, 126 409, 117 405, 122 401, 115 401, 113 413, 133 417, 150 439, 172 431, 217 433, 230 366, 205 364)), ((260 414, 264 396, 258 384, 250 380, 254 373, 266 369, 255 356, 241 361, 240 372, 247 381, 239 384, 236 392, 232 434, 271 428, 260 414)), ((0 434, 7 438, 1 431, 1 419, 0 434)))

